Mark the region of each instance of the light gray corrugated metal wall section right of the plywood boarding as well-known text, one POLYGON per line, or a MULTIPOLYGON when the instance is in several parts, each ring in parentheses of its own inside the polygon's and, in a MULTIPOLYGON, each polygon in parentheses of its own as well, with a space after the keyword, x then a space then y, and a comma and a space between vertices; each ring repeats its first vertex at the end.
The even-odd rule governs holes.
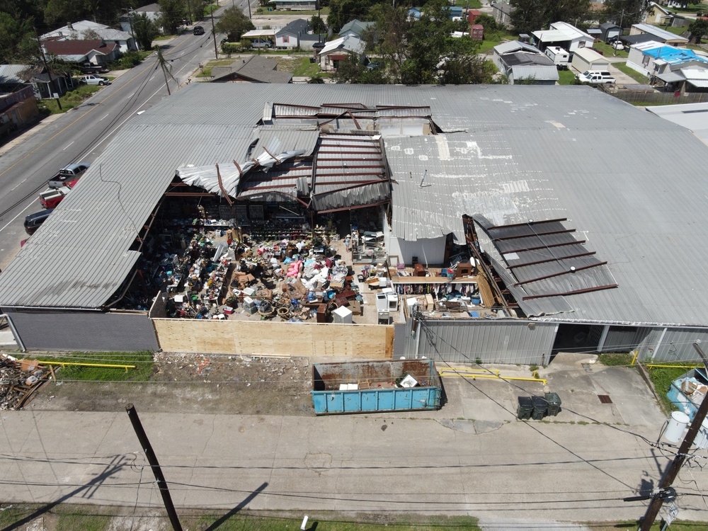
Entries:
POLYGON ((450 363, 546 365, 556 338, 554 323, 532 321, 422 321, 418 358, 450 363))

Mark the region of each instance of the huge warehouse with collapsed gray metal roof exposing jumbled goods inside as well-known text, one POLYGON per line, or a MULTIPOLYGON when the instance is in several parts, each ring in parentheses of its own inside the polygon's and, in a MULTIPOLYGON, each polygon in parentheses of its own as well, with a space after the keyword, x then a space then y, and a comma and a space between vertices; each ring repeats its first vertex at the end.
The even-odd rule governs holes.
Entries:
POLYGON ((190 84, 93 162, 0 308, 30 350, 693 359, 706 159, 587 87, 190 84))

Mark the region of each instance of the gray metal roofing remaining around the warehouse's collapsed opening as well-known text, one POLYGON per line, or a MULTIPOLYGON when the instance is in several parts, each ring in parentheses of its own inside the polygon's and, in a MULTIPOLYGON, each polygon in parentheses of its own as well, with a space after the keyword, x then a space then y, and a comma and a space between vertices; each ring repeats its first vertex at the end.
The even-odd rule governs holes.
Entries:
MULTIPOLYGON (((384 105, 389 113, 430 108, 438 135, 396 129, 382 138, 393 179, 392 236, 416 241, 452 232, 464 241, 463 214, 505 227, 570 219, 561 223, 575 229, 573 245, 607 261, 610 276, 596 278, 619 287, 520 301, 536 319, 708 325, 708 251, 696 244, 708 224, 708 146, 583 86, 190 84, 122 127, 0 274, 0 306, 101 307, 137 262, 131 246, 176 169, 242 160, 256 124, 282 102, 298 116, 321 113, 325 103, 334 114, 342 102, 384 105), (57 268, 72 274, 55 275, 57 268)), ((482 249, 513 284, 513 249, 500 252, 485 231, 482 249)), ((572 277, 561 282, 573 287, 572 277)))

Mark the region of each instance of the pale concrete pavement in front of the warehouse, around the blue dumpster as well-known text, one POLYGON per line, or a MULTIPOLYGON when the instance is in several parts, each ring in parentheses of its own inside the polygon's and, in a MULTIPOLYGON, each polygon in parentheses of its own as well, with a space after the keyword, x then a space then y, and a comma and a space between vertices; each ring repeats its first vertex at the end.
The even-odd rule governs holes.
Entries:
MULTIPOLYGON (((540 384, 521 382, 519 389, 459 377, 444 379, 448 401, 440 411, 148 413, 164 407, 156 401, 171 401, 178 387, 169 384, 149 389, 144 405, 151 384, 131 384, 119 409, 137 404, 178 507, 229 510, 248 498, 253 510, 467 514, 494 529, 631 520, 644 513, 644 502, 622 498, 651 491, 668 462, 668 453, 646 442, 656 440, 665 417, 636 371, 591 358, 559 355, 540 371, 564 401, 559 416, 542 422, 515 418, 516 396, 539 393, 540 384), (612 404, 601 404, 598 394, 612 404)), ((524 367, 500 367, 529 375, 524 367)), ((198 405, 217 399, 224 385, 188 392, 198 405)), ((159 508, 125 411, 49 411, 52 389, 33 402, 45 411, 30 404, 1 415, 6 454, 20 459, 0 459, 8 480, 1 498, 159 508)), ((708 488, 700 474, 681 477, 708 488)), ((700 496, 679 499, 682 520, 704 518, 700 496)))

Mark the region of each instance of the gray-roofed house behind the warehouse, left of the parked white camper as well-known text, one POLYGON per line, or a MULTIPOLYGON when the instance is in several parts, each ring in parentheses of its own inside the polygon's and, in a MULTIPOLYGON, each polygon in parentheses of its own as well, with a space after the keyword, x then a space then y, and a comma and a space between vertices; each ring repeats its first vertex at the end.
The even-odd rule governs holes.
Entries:
POLYGON ((492 60, 511 85, 520 79, 533 79, 536 85, 554 85, 559 79, 551 59, 537 47, 518 40, 495 46, 492 60))

